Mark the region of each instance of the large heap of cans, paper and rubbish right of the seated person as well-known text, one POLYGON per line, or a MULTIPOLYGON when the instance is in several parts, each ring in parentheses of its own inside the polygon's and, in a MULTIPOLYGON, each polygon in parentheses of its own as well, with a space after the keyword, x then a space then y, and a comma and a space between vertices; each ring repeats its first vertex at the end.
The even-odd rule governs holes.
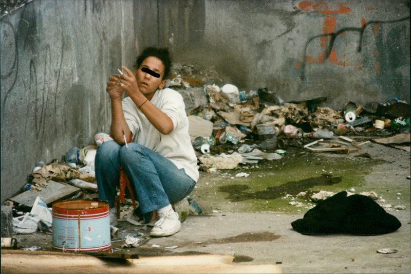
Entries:
POLYGON ((347 102, 342 110, 334 110, 319 106, 327 100, 325 97, 285 102, 266 87, 240 91, 214 74, 188 65, 174 70, 175 78, 168 86, 177 91, 202 86, 208 98, 207 104, 188 114, 192 144, 204 171, 279 159, 287 147, 312 152, 358 152, 365 142, 356 143, 347 136, 397 134, 395 138, 374 141, 409 143, 410 107, 398 98, 384 104, 347 102))

